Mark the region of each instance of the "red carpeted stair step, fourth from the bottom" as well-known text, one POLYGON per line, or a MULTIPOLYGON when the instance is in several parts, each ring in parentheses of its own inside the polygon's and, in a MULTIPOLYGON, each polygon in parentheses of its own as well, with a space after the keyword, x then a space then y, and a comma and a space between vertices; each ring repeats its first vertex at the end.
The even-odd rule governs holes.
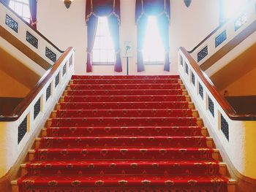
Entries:
POLYGON ((214 147, 211 137, 42 137, 36 148, 60 147, 214 147))

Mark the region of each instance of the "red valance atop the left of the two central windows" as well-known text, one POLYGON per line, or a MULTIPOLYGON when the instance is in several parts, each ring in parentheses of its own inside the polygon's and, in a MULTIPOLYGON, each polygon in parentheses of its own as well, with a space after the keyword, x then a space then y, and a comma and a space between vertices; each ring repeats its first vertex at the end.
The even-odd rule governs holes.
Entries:
POLYGON ((114 15, 120 23, 120 0, 86 0, 86 23, 91 15, 97 18, 114 15))

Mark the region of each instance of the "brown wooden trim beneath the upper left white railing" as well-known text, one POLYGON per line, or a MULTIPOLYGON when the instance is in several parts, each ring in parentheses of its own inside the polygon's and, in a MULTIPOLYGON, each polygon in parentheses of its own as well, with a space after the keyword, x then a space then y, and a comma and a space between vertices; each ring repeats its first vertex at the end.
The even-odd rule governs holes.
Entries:
POLYGON ((43 69, 48 70, 51 64, 48 61, 45 61, 44 58, 37 55, 34 50, 31 50, 28 46, 23 44, 18 38, 14 37, 9 31, 7 31, 4 27, 0 26, 0 36, 9 42, 11 45, 16 47, 20 52, 24 55, 31 58, 32 61, 36 62, 39 66, 42 66, 43 69))

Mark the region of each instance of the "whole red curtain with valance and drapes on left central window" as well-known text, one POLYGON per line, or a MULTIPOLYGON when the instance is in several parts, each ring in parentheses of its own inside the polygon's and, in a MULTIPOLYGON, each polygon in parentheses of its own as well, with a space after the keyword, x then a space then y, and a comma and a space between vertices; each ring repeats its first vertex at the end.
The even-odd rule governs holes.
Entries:
POLYGON ((113 38, 116 52, 115 72, 122 72, 119 45, 120 0, 86 0, 86 22, 88 30, 86 72, 91 72, 92 70, 91 51, 94 46, 94 39, 97 30, 96 23, 98 21, 96 21, 95 18, 102 16, 108 17, 108 26, 110 28, 111 37, 113 38))

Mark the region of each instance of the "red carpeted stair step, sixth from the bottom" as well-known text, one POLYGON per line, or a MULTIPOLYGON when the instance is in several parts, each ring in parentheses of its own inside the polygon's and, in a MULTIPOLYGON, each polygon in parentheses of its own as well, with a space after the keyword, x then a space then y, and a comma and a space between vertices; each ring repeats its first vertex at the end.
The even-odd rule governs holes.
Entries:
POLYGON ((203 126, 196 118, 53 118, 47 126, 203 126))

